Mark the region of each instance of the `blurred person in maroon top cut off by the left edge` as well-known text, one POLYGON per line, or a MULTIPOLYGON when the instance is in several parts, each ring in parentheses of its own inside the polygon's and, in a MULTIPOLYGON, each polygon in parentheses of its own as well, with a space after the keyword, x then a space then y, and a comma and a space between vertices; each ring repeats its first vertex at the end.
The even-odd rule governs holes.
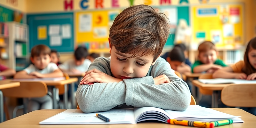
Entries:
POLYGON ((8 76, 13 76, 16 71, 1 64, 1 51, 0 51, 0 80, 6 79, 8 76))

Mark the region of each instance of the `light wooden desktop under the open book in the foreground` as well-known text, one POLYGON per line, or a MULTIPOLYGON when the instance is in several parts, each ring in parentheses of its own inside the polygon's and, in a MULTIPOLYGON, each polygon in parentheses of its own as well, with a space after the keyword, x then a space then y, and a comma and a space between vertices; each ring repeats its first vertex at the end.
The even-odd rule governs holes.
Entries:
MULTIPOLYGON (((250 128, 256 126, 256 116, 238 108, 212 108, 235 116, 242 116, 244 123, 220 126, 218 128, 250 128)), ((171 125, 164 123, 139 123, 139 124, 100 124, 100 125, 39 125, 40 121, 54 116, 65 109, 36 110, 0 124, 1 128, 193 128, 188 126, 171 125)))

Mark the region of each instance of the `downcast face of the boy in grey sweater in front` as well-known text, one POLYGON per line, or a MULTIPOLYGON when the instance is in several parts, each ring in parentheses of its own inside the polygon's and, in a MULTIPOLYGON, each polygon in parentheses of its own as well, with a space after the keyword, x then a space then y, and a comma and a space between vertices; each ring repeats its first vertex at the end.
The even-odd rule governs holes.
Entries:
POLYGON ((138 58, 128 58, 129 54, 116 51, 115 46, 110 48, 110 68, 114 77, 120 79, 141 78, 147 75, 153 62, 153 55, 138 58))

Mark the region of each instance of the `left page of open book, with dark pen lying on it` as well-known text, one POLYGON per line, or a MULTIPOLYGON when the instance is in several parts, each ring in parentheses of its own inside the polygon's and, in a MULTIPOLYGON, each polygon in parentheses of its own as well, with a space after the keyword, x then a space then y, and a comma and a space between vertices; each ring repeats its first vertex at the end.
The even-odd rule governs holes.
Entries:
POLYGON ((111 109, 104 112, 83 113, 80 109, 67 109, 39 124, 135 124, 133 109, 111 109), (110 119, 105 122, 96 116, 100 113, 110 119))

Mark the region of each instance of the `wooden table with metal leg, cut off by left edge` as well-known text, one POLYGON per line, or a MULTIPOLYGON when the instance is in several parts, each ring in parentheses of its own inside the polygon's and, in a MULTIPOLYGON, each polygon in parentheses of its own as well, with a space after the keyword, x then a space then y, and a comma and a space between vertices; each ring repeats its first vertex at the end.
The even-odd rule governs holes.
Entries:
POLYGON ((1 89, 20 86, 20 82, 11 82, 10 80, 0 81, 0 123, 4 121, 4 95, 1 89))

